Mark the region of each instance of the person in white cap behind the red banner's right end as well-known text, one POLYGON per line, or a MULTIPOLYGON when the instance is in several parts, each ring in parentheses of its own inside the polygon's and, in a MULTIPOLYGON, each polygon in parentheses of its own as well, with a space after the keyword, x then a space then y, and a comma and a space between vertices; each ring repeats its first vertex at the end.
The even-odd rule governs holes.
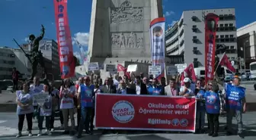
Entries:
POLYGON ((183 82, 184 82, 184 86, 181 86, 179 95, 184 97, 193 96, 194 90, 190 86, 191 80, 188 77, 186 77, 184 78, 183 82))

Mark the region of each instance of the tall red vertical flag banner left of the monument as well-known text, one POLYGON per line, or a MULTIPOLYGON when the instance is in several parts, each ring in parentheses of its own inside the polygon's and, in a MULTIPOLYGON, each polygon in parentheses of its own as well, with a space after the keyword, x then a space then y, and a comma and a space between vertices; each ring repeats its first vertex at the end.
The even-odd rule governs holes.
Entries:
POLYGON ((59 67, 61 78, 66 79, 75 76, 75 60, 69 29, 67 0, 53 0, 53 2, 58 40, 59 67))

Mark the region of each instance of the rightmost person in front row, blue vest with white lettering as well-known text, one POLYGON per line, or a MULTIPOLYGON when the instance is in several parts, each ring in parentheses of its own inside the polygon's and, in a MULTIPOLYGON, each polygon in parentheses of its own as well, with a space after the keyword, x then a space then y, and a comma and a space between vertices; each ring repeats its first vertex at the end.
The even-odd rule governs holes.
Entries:
POLYGON ((244 138, 245 136, 242 133, 242 114, 246 111, 245 88, 240 86, 240 78, 238 76, 233 77, 232 84, 229 83, 225 87, 227 110, 226 135, 232 135, 232 118, 235 115, 238 125, 238 136, 244 138))

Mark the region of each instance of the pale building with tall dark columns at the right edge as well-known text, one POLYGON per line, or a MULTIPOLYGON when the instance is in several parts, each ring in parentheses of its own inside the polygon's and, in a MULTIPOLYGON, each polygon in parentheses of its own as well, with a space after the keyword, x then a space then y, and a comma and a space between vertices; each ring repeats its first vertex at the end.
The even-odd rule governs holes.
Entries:
POLYGON ((249 64, 256 61, 256 21, 237 30, 238 58, 249 69, 249 64))

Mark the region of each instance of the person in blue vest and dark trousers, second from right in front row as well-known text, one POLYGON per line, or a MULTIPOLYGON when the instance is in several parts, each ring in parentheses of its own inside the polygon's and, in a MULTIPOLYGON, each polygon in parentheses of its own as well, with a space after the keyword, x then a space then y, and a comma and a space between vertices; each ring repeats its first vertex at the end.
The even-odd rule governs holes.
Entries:
POLYGON ((203 98, 206 104, 207 119, 210 126, 208 135, 216 137, 219 132, 219 114, 223 111, 223 98, 219 92, 219 86, 216 82, 208 82, 208 91, 203 98))

